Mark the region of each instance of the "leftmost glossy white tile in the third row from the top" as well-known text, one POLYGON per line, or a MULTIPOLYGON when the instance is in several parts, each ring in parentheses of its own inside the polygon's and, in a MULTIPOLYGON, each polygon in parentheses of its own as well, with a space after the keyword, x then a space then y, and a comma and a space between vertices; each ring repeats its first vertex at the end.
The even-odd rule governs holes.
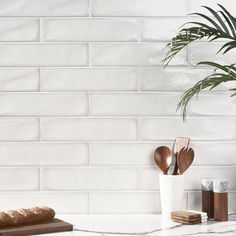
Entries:
POLYGON ((0 66, 85 66, 86 44, 0 44, 0 66))

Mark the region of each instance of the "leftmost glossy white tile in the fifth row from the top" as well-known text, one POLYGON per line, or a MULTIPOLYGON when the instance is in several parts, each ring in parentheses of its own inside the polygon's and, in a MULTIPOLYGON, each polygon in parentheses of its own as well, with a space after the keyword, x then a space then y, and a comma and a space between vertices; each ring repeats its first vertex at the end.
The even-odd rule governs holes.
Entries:
POLYGON ((63 116, 86 115, 86 94, 59 93, 0 93, 0 115, 63 116))

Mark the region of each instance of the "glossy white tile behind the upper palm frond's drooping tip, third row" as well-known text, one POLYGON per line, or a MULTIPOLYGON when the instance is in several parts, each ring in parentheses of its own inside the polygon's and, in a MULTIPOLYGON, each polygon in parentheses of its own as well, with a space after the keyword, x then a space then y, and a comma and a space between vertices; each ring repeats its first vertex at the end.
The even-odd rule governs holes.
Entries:
MULTIPOLYGON (((93 66, 158 66, 164 59, 165 43, 93 43, 93 66)), ((186 65, 186 52, 180 53, 172 65, 186 65)))

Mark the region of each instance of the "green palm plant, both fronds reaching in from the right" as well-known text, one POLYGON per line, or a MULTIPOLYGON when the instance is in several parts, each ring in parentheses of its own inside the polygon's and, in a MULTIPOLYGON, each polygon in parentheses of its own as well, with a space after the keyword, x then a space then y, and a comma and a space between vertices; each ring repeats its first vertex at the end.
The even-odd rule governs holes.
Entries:
MULTIPOLYGON (((204 8, 213 15, 213 18, 202 13, 191 14, 203 18, 206 23, 194 21, 188 22, 181 27, 179 33, 166 45, 168 50, 163 60, 163 65, 165 67, 168 66, 169 62, 176 54, 196 40, 206 39, 209 42, 219 39, 226 40, 217 53, 225 54, 232 49, 236 49, 236 18, 234 18, 222 5, 218 4, 218 6, 220 7, 220 10, 217 12, 210 7, 204 6, 204 8)), ((210 66, 211 68, 214 68, 214 72, 200 80, 181 96, 177 105, 177 110, 180 109, 182 111, 183 119, 186 118, 187 107, 190 100, 194 96, 198 96, 202 90, 212 90, 221 83, 236 81, 235 64, 220 65, 211 61, 203 61, 199 62, 198 65, 210 66)), ((236 89, 233 88, 230 90, 233 91, 231 96, 236 96, 236 89)))

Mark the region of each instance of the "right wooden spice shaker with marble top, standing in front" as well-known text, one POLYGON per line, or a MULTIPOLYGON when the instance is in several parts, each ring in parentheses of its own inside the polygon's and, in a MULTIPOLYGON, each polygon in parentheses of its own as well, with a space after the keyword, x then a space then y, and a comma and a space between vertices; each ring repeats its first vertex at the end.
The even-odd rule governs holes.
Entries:
POLYGON ((214 218, 219 221, 228 220, 228 181, 215 179, 213 181, 214 192, 214 218))

